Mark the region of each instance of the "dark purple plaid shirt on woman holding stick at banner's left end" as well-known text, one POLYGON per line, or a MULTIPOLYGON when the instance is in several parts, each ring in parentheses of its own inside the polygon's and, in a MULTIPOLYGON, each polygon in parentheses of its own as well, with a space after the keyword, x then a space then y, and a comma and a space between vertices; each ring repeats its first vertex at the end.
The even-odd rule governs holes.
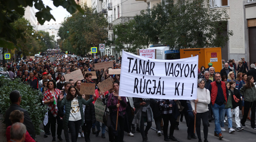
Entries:
MULTIPOLYGON (((126 98, 125 97, 121 97, 122 101, 124 101, 126 103, 126 98)), ((108 96, 108 103, 107 103, 107 107, 109 106, 116 106, 118 104, 118 99, 117 96, 114 96, 113 93, 109 94, 108 96)), ((126 103, 127 104, 127 103, 126 103)), ((126 106, 122 106, 121 102, 120 102, 120 107, 119 107, 119 112, 123 111, 126 109, 126 106)), ((117 108, 112 109, 113 111, 117 111, 117 108)), ((125 113, 124 113, 125 114, 125 113)), ((120 116, 120 113, 118 114, 118 116, 120 116)))

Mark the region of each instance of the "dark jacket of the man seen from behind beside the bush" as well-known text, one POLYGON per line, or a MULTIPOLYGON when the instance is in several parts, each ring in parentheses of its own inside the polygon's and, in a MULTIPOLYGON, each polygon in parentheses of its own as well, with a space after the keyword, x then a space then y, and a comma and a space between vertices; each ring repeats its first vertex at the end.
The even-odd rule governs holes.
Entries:
POLYGON ((11 120, 9 119, 10 117, 10 113, 13 110, 20 110, 24 112, 24 122, 23 124, 26 126, 27 131, 29 132, 30 136, 35 139, 35 127, 31 121, 31 118, 29 116, 28 111, 26 111, 25 109, 21 108, 19 105, 17 104, 11 104, 10 107, 6 110, 6 113, 4 115, 4 121, 6 122, 6 127, 11 126, 11 120))

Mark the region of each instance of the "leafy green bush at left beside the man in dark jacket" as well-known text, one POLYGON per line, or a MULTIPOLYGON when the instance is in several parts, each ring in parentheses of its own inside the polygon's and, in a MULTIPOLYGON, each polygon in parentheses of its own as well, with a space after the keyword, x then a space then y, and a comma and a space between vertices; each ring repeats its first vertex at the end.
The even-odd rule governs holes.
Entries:
POLYGON ((30 118, 35 127, 36 134, 40 134, 40 125, 42 123, 42 118, 45 114, 43 106, 41 105, 41 99, 43 95, 40 91, 36 91, 29 85, 21 83, 20 79, 7 80, 0 78, 0 110, 4 115, 7 108, 10 106, 11 101, 9 94, 13 90, 20 91, 22 95, 22 101, 20 106, 26 109, 30 115, 30 118))

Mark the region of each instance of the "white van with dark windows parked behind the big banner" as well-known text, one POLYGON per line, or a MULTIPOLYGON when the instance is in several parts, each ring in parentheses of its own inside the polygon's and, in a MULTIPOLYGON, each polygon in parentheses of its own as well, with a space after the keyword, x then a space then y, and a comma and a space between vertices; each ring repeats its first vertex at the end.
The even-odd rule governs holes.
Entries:
POLYGON ((156 49, 156 59, 160 60, 173 60, 180 59, 180 50, 175 48, 170 49, 170 46, 166 45, 151 45, 148 49, 156 49))

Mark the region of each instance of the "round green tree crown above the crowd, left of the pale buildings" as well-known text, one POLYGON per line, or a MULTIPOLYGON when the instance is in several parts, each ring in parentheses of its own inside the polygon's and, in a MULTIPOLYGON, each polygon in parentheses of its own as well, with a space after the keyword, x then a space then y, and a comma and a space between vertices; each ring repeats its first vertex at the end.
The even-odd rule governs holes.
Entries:
POLYGON ((86 17, 76 12, 67 17, 59 29, 58 35, 61 40, 58 44, 63 51, 85 55, 91 47, 98 47, 107 40, 108 23, 104 15, 94 12, 95 10, 87 5, 83 6, 83 10, 86 17))

